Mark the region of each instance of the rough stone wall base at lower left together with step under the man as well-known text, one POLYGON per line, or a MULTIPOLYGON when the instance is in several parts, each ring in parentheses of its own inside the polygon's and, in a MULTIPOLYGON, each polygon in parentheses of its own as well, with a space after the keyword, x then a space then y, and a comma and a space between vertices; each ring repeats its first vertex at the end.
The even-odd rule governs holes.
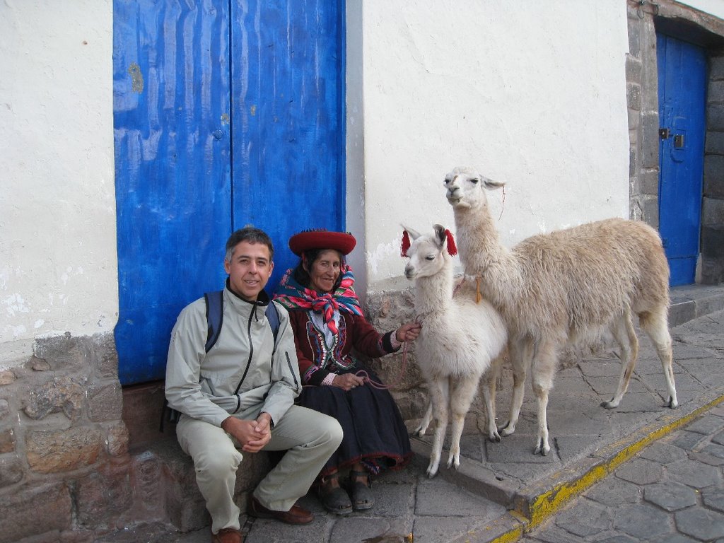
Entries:
MULTIPOLYGON (((91 543, 161 521, 209 526, 191 458, 175 428, 159 432, 162 383, 122 390, 113 334, 36 340, 0 371, 0 543, 91 543)), ((271 468, 244 455, 235 500, 271 468)))

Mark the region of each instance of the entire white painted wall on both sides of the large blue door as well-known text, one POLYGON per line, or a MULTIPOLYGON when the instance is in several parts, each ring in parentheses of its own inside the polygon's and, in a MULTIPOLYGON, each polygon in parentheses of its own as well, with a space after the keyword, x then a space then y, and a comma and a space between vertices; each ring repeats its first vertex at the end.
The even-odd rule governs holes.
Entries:
MULTIPOLYGON (((721 0, 691 0, 724 16, 721 0)), ((508 182, 508 245, 628 214, 623 2, 348 2, 348 227, 361 292, 400 222, 452 227, 442 178, 508 182)), ((117 319, 112 0, 0 3, 0 367, 117 319)), ((493 193, 500 211, 501 194, 493 193)))

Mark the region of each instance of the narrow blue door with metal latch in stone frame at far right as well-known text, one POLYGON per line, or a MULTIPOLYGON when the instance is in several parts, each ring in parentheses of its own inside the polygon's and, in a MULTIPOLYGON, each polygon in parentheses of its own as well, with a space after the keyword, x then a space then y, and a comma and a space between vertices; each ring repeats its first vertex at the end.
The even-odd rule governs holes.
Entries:
POLYGON ((660 118, 659 231, 670 283, 694 282, 699 256, 707 60, 702 49, 657 36, 660 118))

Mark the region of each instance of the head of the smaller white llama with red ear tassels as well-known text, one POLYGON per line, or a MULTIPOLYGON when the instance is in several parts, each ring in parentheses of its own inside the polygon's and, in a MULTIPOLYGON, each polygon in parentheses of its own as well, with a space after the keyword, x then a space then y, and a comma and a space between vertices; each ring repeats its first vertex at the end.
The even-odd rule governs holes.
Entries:
POLYGON ((432 277, 445 267, 447 261, 450 260, 450 255, 455 255, 457 252, 450 230, 446 230, 439 224, 434 225, 434 233, 431 235, 421 235, 415 230, 405 227, 403 256, 410 257, 410 261, 405 266, 405 277, 410 280, 432 277), (405 235, 412 238, 409 248, 405 247, 405 235))

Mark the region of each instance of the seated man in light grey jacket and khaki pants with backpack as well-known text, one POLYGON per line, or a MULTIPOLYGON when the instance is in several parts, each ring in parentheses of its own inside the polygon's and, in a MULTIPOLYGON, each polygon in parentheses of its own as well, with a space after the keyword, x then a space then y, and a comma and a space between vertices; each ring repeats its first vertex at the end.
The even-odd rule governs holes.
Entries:
POLYGON ((306 524, 314 517, 296 501, 342 441, 334 418, 293 405, 302 388, 289 314, 275 306, 276 330, 266 312, 274 303, 264 291, 273 256, 271 239, 262 230, 234 232, 226 245, 229 277, 213 346, 206 352, 204 298, 181 311, 171 333, 166 397, 169 407, 181 413, 176 434, 193 458, 196 482, 211 513, 212 542, 243 542, 234 502, 243 453, 287 451, 254 490, 248 514, 306 524))

